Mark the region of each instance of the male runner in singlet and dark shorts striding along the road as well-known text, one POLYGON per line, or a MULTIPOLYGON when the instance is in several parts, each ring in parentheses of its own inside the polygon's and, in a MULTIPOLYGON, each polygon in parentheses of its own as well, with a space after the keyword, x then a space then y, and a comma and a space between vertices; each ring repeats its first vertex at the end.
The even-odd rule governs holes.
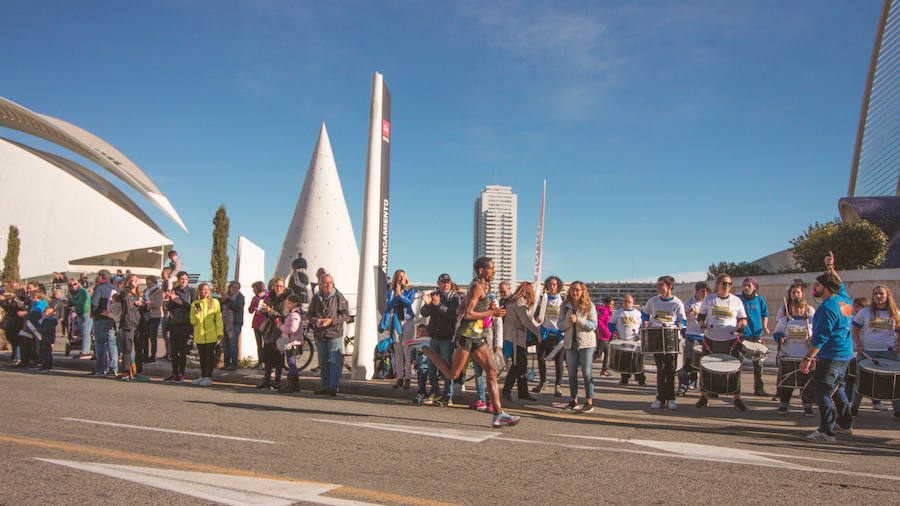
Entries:
POLYGON ((485 318, 502 318, 506 310, 496 306, 496 303, 488 301, 487 289, 494 279, 494 261, 488 257, 475 260, 476 278, 469 285, 469 292, 465 301, 460 306, 462 320, 456 329, 456 349, 453 352, 452 366, 430 347, 425 346, 422 352, 428 356, 431 362, 444 376, 456 378, 462 371, 469 354, 484 370, 487 376, 487 387, 494 403, 494 418, 491 421, 493 427, 515 425, 519 421, 518 416, 510 416, 503 412, 500 405, 500 389, 497 385, 497 368, 494 366, 494 357, 491 348, 487 345, 482 331, 485 318))

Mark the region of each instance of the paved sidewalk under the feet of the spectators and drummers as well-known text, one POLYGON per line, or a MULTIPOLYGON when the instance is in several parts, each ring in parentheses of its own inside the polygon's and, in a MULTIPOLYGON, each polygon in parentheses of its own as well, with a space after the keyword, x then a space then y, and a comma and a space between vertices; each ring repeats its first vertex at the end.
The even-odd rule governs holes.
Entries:
MULTIPOLYGON (((61 348, 57 345, 58 348, 61 348)), ((10 359, 9 352, 0 354, 0 361, 5 363, 10 359)), ((54 368, 59 370, 93 371, 93 360, 79 360, 65 357, 62 351, 54 353, 54 368)), ((317 361, 314 359, 311 366, 317 361)), ((531 363, 531 362, 529 362, 531 363)), ((744 403, 746 412, 738 412, 731 403, 731 396, 721 396, 718 399, 710 399, 709 407, 697 409, 694 407, 699 398, 697 390, 691 390, 686 397, 678 397, 677 410, 650 409, 650 404, 656 398, 656 378, 654 373, 647 374, 647 386, 639 387, 632 379, 627 386, 619 384, 620 376, 613 373, 611 376, 601 376, 599 362, 594 362, 594 411, 581 414, 565 410, 569 402, 568 372, 561 381, 561 397, 553 394, 555 383, 554 367, 548 364, 548 385, 543 393, 532 394, 537 401, 519 402, 513 391, 513 402, 506 401, 504 407, 518 413, 527 413, 537 417, 565 418, 567 420, 583 420, 596 423, 615 423, 634 426, 663 426, 669 429, 683 427, 685 430, 725 430, 738 432, 766 432, 783 433, 785 437, 800 437, 811 432, 818 426, 818 409, 815 408, 815 416, 807 417, 802 413, 802 405, 797 393, 791 400, 790 411, 787 415, 779 415, 776 412, 778 402, 771 400, 771 394, 775 390, 775 369, 764 369, 764 384, 770 394, 765 397, 745 395, 744 403)), ((535 373, 537 371, 535 370, 535 373)), ((143 374, 153 383, 162 383, 162 379, 171 374, 168 361, 157 359, 156 362, 144 365, 143 374)), ((188 368, 185 371, 186 379, 199 377, 199 368, 188 368)), ((246 385, 255 386, 261 380, 263 371, 259 369, 238 369, 236 371, 224 371, 217 369, 213 375, 213 381, 217 385, 246 385)), ((501 386, 503 381, 501 375, 501 386)), ((286 372, 282 379, 286 378, 286 372)), ((579 401, 584 400, 584 385, 579 374, 579 401)), ((342 395, 358 395, 370 397, 393 398, 410 401, 415 396, 417 384, 413 379, 410 390, 393 388, 394 380, 353 380, 350 373, 343 371, 341 378, 342 395)), ((441 383, 443 384, 443 382, 441 383)), ((529 388, 537 384, 537 378, 529 381, 529 388)), ((753 391, 752 367, 745 364, 741 374, 742 390, 753 391)), ((309 370, 300 373, 301 394, 309 394, 319 388, 319 376, 309 370)), ((466 384, 465 392, 455 392, 453 396, 454 407, 467 407, 475 400, 475 382, 466 384)), ((423 406, 423 408, 426 408, 423 406)), ((893 419, 890 412, 878 412, 872 409, 871 401, 864 399, 860 407, 860 414, 854 420, 854 435, 845 436, 842 440, 867 442, 869 444, 900 446, 900 423, 893 419)))

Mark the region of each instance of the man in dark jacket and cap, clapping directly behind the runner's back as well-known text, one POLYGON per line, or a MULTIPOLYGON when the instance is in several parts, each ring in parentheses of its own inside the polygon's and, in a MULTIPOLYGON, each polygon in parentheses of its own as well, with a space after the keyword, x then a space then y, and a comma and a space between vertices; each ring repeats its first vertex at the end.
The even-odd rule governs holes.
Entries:
MULTIPOLYGON (((447 273, 438 276, 438 289, 422 296, 422 316, 428 316, 428 335, 431 349, 444 357, 448 363, 453 360, 453 336, 456 333, 456 310, 459 309, 459 295, 451 290, 453 281, 447 273)), ((428 380, 433 390, 426 403, 433 403, 438 385, 437 367, 428 368, 428 380)), ((453 400, 453 378, 444 379, 442 401, 453 400)))

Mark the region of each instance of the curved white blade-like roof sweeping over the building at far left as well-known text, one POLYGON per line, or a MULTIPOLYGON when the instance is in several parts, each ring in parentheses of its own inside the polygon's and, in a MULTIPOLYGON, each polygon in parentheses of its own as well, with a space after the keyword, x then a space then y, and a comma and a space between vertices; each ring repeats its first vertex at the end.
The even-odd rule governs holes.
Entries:
POLYGON ((187 227, 169 199, 147 174, 121 151, 96 135, 61 119, 31 111, 3 97, 0 97, 0 126, 48 140, 95 162, 141 192, 141 195, 156 204, 187 232, 187 227))

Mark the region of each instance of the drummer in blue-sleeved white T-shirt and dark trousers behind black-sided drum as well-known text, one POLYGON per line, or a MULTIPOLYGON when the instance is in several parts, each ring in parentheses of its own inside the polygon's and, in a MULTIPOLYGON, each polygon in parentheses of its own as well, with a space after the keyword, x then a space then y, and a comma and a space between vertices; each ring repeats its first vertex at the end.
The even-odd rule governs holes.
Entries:
MULTIPOLYGON (((660 276, 656 280, 657 295, 647 301, 641 312, 644 326, 650 327, 684 327, 686 316, 684 303, 681 299, 672 295, 675 287, 675 278, 672 276, 660 276)), ((656 353, 653 361, 656 362, 656 400, 650 404, 650 409, 659 409, 665 403, 669 409, 677 409, 675 405, 675 364, 678 355, 674 353, 656 353)))

